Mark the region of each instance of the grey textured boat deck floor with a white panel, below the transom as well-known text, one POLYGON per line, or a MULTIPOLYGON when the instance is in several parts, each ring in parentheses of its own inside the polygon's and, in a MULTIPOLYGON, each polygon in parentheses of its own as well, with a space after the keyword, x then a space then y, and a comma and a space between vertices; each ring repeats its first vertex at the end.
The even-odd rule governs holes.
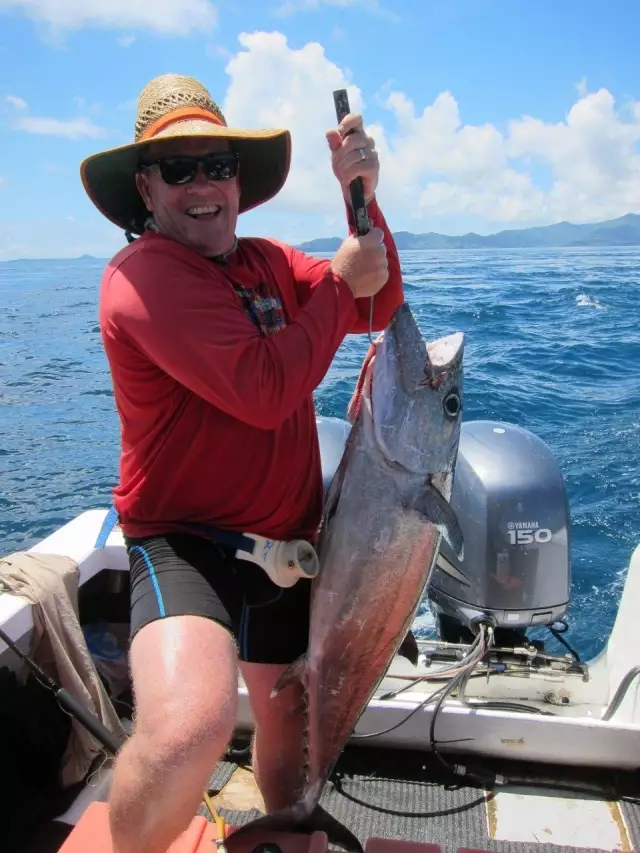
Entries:
MULTIPOLYGON (((322 805, 363 847, 377 836, 436 844, 442 853, 464 848, 495 853, 640 850, 636 774, 548 768, 547 781, 552 778, 555 787, 547 789, 538 787, 545 781, 539 767, 502 762, 484 769, 527 784, 490 794, 481 787, 452 785, 429 753, 350 747, 325 788, 322 805)), ((263 811, 247 760, 221 761, 209 792, 232 826, 263 811)), ((199 814, 209 816, 204 804, 199 814)), ((47 821, 6 853, 56 853, 71 829, 47 821)))

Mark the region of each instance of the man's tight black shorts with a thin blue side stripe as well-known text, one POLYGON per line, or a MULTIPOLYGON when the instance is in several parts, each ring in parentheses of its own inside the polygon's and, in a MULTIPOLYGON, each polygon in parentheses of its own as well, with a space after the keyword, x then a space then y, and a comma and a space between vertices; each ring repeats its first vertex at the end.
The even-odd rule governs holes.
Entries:
POLYGON ((292 663, 307 650, 311 581, 287 589, 210 539, 168 533, 125 537, 131 638, 166 616, 213 619, 236 638, 240 660, 292 663))

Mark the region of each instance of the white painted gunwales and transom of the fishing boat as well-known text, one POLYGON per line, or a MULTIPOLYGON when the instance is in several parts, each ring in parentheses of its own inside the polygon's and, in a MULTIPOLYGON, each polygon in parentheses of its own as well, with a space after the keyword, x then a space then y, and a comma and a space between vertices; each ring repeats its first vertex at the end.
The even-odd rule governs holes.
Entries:
MULTIPOLYGON (((119 530, 111 532, 104 547, 95 547, 105 515, 106 510, 84 512, 31 550, 65 555, 76 561, 81 584, 106 569, 127 572, 128 562, 119 530)), ((438 712, 438 742, 457 741, 453 744, 457 753, 491 758, 593 768, 640 767, 639 679, 631 681, 611 718, 603 719, 624 676, 640 665, 636 629, 639 605, 640 546, 630 561, 608 643, 596 659, 587 662, 588 682, 578 676, 550 676, 549 673, 527 678, 492 676, 488 681, 478 679, 468 690, 467 695, 474 698, 527 703, 539 710, 552 711, 554 716, 468 707, 448 700, 438 712), (556 704, 559 702, 566 704, 556 704)), ((24 599, 0 594, 0 626, 12 640, 20 641, 23 648, 27 647, 32 625, 31 607, 24 599)), ((0 655, 3 653, 7 653, 7 649, 0 641, 0 655)), ((8 663, 8 658, 3 662, 8 663)), ((417 711, 416 706, 437 689, 438 683, 412 684, 410 679, 429 672, 422 664, 416 668, 403 658, 397 658, 358 722, 352 743, 428 750, 434 703, 426 703, 417 711), (409 689, 394 699, 382 698, 399 687, 409 689), (416 712, 403 723, 412 711, 416 712), (392 728, 396 725, 397 728, 392 728), (357 737, 378 731, 386 733, 365 740, 357 737)), ((238 728, 251 729, 253 720, 241 679, 238 690, 238 728)), ((444 752, 447 747, 439 746, 439 749, 444 752)))

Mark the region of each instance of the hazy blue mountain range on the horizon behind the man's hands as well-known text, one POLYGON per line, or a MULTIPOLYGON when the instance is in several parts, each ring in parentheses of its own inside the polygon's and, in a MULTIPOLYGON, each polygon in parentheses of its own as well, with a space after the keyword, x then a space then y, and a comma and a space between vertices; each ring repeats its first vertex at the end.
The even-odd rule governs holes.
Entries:
MULTIPOLYGON (((607 222, 574 225, 558 222, 536 228, 499 231, 486 237, 480 234, 412 234, 394 231, 398 249, 556 249, 588 246, 640 246, 640 215, 627 213, 607 222)), ((341 237, 320 237, 301 243, 305 252, 335 252, 341 237)))

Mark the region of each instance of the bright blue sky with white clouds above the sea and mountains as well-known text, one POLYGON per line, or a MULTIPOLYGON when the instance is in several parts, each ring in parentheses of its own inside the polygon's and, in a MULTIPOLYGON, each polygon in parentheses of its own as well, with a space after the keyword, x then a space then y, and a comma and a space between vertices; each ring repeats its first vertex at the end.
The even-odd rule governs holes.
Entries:
POLYGON ((345 236, 325 131, 346 87, 390 228, 489 234, 640 213, 637 0, 0 0, 0 260, 109 257, 83 158, 144 85, 196 77, 236 127, 286 127, 287 183, 239 236, 345 236))

